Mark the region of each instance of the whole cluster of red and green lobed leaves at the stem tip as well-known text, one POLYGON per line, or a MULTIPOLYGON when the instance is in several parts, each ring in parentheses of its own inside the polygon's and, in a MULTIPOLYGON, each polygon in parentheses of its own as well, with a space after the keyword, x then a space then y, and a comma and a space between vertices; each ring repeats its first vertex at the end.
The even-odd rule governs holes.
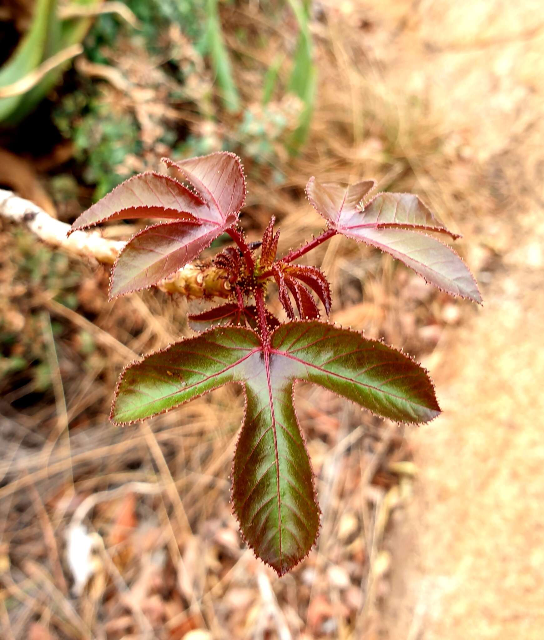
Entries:
MULTIPOLYGON (((248 545, 282 575, 314 545, 320 515, 293 404, 294 383, 321 385, 399 422, 420 424, 440 413, 428 373, 412 358, 321 318, 317 300, 325 314, 332 305, 328 281, 319 268, 296 260, 343 234, 391 253, 454 296, 481 302, 480 294, 460 257, 427 232, 458 236, 415 195, 370 196, 372 180, 347 186, 311 178, 307 195, 326 229, 278 258, 273 219, 262 243, 248 243, 238 226, 246 185, 237 156, 216 153, 165 162, 179 180, 153 172, 136 175, 81 214, 72 230, 118 218, 157 220, 118 256, 111 298, 168 278, 227 232, 235 246, 214 258, 223 289, 219 292, 217 282, 204 283, 210 295, 227 301, 189 317, 200 335, 125 368, 111 420, 146 419, 221 385, 242 385, 246 402, 232 467, 234 513, 248 545), (271 280, 278 285, 286 323, 266 308, 271 280)), ((203 271, 202 278, 209 273, 203 271)))

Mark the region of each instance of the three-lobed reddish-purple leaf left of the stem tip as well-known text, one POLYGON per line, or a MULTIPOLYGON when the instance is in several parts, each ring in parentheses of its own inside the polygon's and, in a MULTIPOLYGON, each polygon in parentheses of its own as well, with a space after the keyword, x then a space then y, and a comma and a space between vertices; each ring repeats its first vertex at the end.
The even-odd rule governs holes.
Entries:
POLYGON ((157 284, 198 257, 238 218, 246 187, 239 158, 230 153, 166 164, 200 192, 158 173, 125 180, 77 218, 72 231, 116 218, 169 218, 136 234, 113 266, 110 298, 157 284))

